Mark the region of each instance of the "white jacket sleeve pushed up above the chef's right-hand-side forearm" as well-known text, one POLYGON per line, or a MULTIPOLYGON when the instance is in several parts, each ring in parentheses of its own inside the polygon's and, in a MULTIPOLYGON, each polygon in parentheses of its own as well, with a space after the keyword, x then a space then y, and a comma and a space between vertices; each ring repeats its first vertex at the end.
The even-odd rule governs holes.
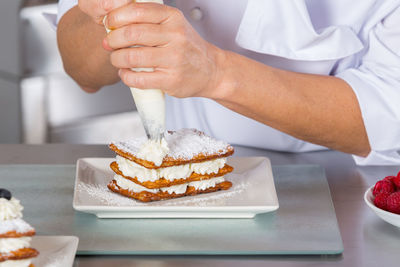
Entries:
POLYGON ((400 7, 369 33, 357 68, 336 76, 357 96, 371 153, 354 156, 359 165, 400 165, 400 7))

